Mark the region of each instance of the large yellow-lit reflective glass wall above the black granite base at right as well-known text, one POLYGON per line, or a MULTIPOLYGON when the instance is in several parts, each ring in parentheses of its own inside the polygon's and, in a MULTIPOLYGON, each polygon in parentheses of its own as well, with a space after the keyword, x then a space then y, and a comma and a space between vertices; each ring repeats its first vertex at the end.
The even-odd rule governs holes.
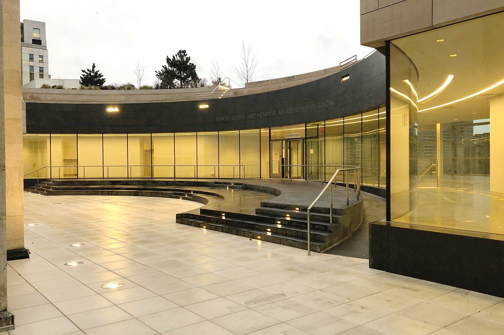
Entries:
POLYGON ((499 13, 389 42, 389 219, 504 233, 503 35, 499 13))

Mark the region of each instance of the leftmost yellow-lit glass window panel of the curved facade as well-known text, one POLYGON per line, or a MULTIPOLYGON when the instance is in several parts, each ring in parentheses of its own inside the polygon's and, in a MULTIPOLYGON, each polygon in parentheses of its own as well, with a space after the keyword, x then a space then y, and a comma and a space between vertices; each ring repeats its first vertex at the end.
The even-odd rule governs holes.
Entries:
POLYGON ((23 135, 23 171, 25 179, 50 178, 49 135, 23 135), (38 172, 36 170, 42 169, 38 172))

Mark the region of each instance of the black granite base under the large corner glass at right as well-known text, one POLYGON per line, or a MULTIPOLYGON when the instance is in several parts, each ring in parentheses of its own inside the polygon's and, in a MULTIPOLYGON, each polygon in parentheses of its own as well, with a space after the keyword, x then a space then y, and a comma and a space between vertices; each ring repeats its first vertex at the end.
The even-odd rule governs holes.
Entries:
POLYGON ((373 222, 369 267, 504 297, 504 236, 373 222))

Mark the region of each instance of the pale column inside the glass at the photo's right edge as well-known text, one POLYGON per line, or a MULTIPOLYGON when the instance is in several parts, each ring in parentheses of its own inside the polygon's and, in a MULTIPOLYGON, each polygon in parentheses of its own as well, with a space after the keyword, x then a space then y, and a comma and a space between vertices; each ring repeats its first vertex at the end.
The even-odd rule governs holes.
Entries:
POLYGON ((504 193, 504 96, 490 100, 490 191, 504 193))

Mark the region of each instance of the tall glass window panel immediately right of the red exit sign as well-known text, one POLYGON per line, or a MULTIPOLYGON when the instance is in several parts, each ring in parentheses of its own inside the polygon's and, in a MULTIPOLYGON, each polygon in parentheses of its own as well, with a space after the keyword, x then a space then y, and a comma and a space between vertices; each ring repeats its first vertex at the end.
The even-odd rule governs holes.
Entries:
MULTIPOLYGON (((327 120, 325 125, 326 136, 326 165, 343 165, 343 119, 327 120)), ((325 180, 330 180, 337 167, 326 168, 325 180)), ((336 181, 343 181, 343 174, 336 177, 336 181)))

